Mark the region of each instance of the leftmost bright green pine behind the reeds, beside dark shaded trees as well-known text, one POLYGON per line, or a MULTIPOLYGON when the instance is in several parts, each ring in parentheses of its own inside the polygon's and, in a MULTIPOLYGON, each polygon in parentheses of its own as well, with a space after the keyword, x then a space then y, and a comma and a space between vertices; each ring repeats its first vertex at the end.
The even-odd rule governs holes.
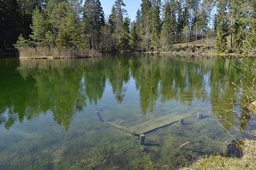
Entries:
POLYGON ((34 40, 35 47, 44 47, 43 41, 46 34, 46 24, 43 15, 40 13, 38 8, 35 8, 32 16, 32 34, 29 36, 34 40))

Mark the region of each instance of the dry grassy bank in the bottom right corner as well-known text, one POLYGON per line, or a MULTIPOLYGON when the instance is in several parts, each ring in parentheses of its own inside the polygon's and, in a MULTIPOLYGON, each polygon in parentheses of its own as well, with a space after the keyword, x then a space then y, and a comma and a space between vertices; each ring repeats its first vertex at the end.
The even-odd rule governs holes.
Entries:
POLYGON ((256 169, 256 140, 245 140, 241 158, 226 158, 209 156, 201 158, 192 166, 183 170, 255 170, 256 169))

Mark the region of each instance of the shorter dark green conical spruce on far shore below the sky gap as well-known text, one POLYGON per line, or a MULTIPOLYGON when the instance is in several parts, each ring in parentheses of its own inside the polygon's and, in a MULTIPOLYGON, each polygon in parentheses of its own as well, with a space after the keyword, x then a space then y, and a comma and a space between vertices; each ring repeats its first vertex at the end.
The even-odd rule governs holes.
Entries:
POLYGON ((122 33, 120 35, 120 40, 119 40, 119 50, 120 51, 129 51, 130 50, 130 20, 128 17, 125 17, 124 22, 122 23, 122 33))

